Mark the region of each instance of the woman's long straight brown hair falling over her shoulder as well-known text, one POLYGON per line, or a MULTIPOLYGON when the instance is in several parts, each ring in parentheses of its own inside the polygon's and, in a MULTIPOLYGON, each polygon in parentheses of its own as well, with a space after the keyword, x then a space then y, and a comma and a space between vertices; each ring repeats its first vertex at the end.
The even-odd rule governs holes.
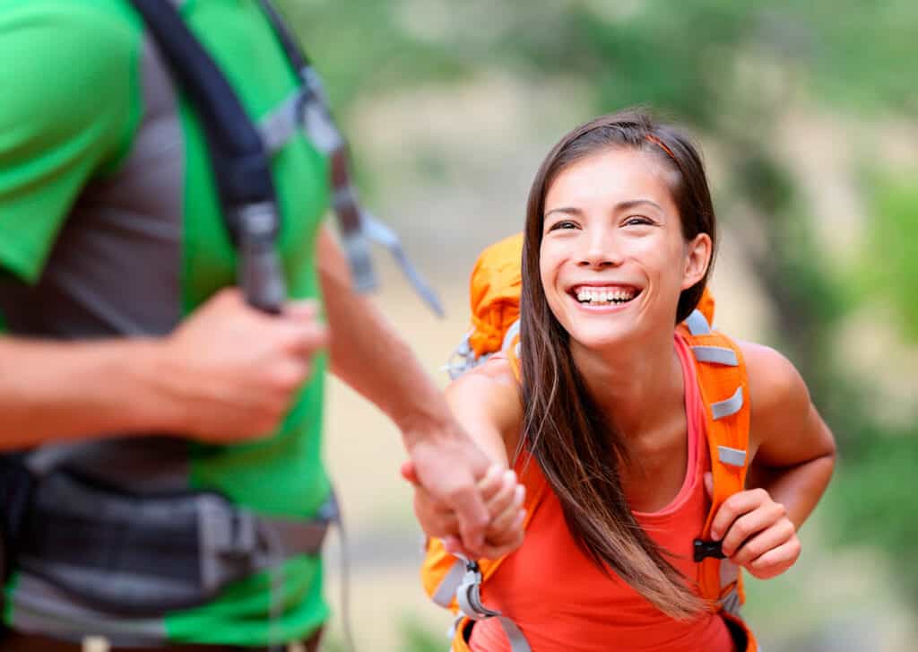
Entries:
MULTIPOLYGON (((532 182, 522 253, 521 378, 526 406, 521 446, 539 464, 577 545, 603 571, 611 568, 674 618, 699 613, 703 602, 666 552, 637 523, 621 489, 627 439, 599 410, 577 371, 568 334, 554 318, 539 274, 545 195, 561 171, 609 149, 651 152, 672 171, 672 197, 686 240, 715 240, 715 218, 700 156, 689 140, 642 111, 596 118, 558 142, 532 182)), ((710 269, 710 266, 709 266, 710 269)), ((682 292, 677 320, 696 307, 708 275, 682 292)))

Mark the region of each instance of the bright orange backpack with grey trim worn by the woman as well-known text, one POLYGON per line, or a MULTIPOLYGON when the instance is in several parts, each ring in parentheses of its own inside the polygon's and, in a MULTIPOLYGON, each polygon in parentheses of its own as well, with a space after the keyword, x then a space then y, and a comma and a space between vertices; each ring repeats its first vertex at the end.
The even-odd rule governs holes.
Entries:
MULTIPOLYGON (((504 352, 516 365, 520 340, 522 234, 496 242, 478 257, 472 271, 470 298, 472 331, 453 352, 446 370, 453 378, 480 365, 494 353, 504 352)), ((700 562, 700 594, 711 609, 722 613, 734 636, 745 641, 744 652, 756 652, 756 639, 739 617, 745 601, 739 568, 722 559, 719 543, 709 541, 711 522, 724 500, 744 489, 749 458, 749 388, 743 355, 722 332, 711 329, 714 300, 705 290, 689 319, 677 326, 685 337, 698 371, 705 426, 711 451, 713 491, 711 511, 695 540, 695 560, 700 562)), ((538 474, 541 478, 541 474, 538 474)), ((544 480, 521 474, 526 485, 527 527, 548 489, 544 480)), ((421 567, 421 582, 431 600, 450 609, 457 617, 453 625, 453 651, 468 650, 467 625, 485 618, 498 618, 508 635, 512 652, 530 652, 524 633, 501 613, 487 609, 487 579, 503 559, 480 561, 446 552, 440 539, 431 538, 421 567)))

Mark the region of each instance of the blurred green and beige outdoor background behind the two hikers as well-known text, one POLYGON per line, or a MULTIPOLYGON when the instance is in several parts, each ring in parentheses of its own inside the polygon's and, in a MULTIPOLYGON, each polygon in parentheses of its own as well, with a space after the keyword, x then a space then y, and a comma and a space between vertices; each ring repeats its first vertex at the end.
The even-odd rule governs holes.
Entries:
MULTIPOLYGON (((378 253, 379 305, 442 384, 476 253, 521 228, 554 141, 636 104, 690 129, 723 225, 718 325, 787 354, 840 447, 799 564, 750 581, 746 616, 768 652, 918 649, 918 3, 281 5, 364 197, 442 293, 449 315, 435 320, 378 253)), ((445 649, 397 432, 340 385, 330 400, 358 645, 445 649)), ((330 546, 339 615, 340 554, 330 546)), ((340 619, 330 639, 339 649, 340 619)))

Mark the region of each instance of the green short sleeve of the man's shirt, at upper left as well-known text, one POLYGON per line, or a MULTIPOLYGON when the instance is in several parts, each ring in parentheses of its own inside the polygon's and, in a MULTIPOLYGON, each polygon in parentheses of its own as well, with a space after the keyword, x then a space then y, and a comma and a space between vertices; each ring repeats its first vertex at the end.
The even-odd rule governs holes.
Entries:
POLYGON ((0 4, 0 267, 28 283, 140 117, 139 31, 104 6, 0 4))

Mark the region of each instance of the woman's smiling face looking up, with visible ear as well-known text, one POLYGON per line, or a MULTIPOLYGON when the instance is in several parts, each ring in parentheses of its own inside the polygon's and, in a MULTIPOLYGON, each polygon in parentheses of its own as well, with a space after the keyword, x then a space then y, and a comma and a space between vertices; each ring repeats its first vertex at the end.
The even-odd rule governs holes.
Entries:
POLYGON ((672 331, 679 293, 711 257, 706 234, 682 236, 673 174, 655 155, 615 148, 571 164, 549 186, 539 268, 573 342, 600 350, 672 331))

